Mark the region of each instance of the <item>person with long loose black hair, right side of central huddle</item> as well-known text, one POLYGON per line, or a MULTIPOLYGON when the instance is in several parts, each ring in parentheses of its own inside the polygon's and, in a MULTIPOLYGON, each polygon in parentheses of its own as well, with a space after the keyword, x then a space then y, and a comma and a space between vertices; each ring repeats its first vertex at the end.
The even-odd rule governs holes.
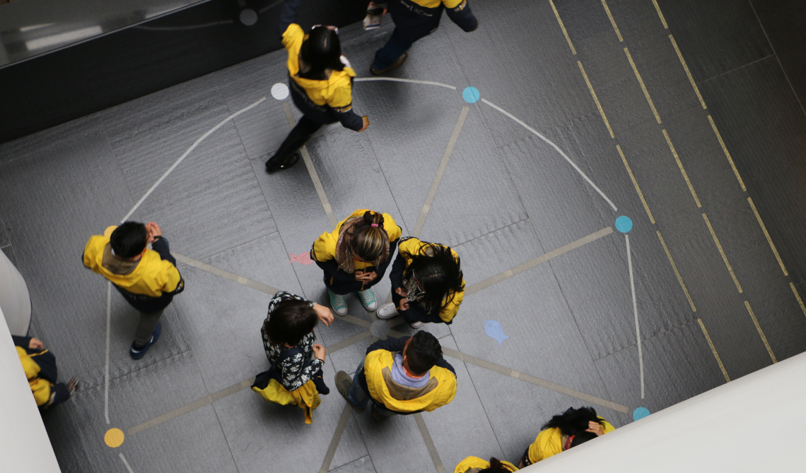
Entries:
POLYGON ((459 255, 438 243, 401 238, 389 274, 392 303, 378 309, 380 319, 403 315, 411 327, 423 323, 451 324, 464 297, 459 255))

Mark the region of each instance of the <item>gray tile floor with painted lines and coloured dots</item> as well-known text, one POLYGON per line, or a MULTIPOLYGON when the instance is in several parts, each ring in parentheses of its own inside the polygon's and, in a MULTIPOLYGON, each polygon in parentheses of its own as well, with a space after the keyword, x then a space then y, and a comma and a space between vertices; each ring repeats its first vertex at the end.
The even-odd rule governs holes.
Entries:
MULTIPOLYGON (((84 380, 72 401, 44 415, 62 470, 127 471, 124 458, 132 471, 241 473, 451 471, 470 454, 517 461, 568 406, 594 405, 622 426, 638 407, 655 412, 806 350, 791 285, 800 281, 783 274, 758 224, 766 214, 748 201, 764 188, 748 175, 755 187, 742 189, 708 118, 713 109, 739 171, 748 150, 796 161, 806 122, 786 114, 796 102, 765 59, 771 52, 750 10, 727 18, 661 2, 684 51, 692 51, 687 34, 700 34, 687 14, 715 25, 722 60, 687 63, 704 109, 650 0, 608 2, 623 41, 602 2, 554 3, 564 32, 550 2, 476 2, 479 31, 446 20, 390 75, 456 90, 356 82, 355 107, 370 128, 333 125, 307 146, 336 219, 375 208, 409 235, 469 107, 422 226, 424 240, 453 246, 463 261, 468 294, 455 323, 424 327, 447 349, 459 391, 420 419, 343 415, 334 392, 306 426, 297 409, 238 387, 267 367, 259 327, 272 288, 326 303, 318 267, 289 257, 331 229, 311 174, 302 163, 263 171, 289 130, 269 93, 287 80, 285 51, 0 146, 0 248, 31 288, 31 334, 56 352, 64 376, 84 380), (722 36, 731 31, 746 35, 722 36), (467 86, 559 146, 617 212, 547 142, 488 103, 463 101, 467 86), (198 143, 134 212, 159 222, 182 255, 187 290, 166 312, 160 343, 137 362, 127 356, 135 313, 113 291, 107 403, 106 283, 81 267, 87 237, 126 215, 198 138, 262 97, 198 143), (791 119, 777 134, 755 133, 769 132, 770 117, 753 112, 769 97, 791 119), (733 103, 742 108, 730 112, 733 103), (625 236, 550 253, 621 215, 634 222, 640 350, 625 236), (500 346, 484 331, 489 319, 509 335, 500 346), (113 427, 129 433, 115 450, 103 442, 113 427)), ((389 32, 389 24, 343 28, 359 76, 389 32)), ((387 279, 376 296, 388 290, 387 279)), ((350 317, 318 328, 330 348, 328 380, 354 370, 371 343, 374 315, 349 303, 350 317)))

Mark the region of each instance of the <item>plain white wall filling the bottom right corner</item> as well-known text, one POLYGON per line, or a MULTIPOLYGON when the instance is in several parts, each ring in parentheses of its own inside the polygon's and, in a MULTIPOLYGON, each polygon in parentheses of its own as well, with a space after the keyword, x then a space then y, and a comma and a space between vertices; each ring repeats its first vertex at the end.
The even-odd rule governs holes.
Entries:
POLYGON ((806 353, 523 471, 806 471, 806 353))

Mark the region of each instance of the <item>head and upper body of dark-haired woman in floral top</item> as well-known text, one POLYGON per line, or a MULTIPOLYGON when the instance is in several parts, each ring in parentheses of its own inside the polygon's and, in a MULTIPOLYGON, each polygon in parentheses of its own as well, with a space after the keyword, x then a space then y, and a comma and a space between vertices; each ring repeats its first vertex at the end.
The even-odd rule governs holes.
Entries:
MULTIPOLYGON (((326 351, 316 341, 319 320, 330 325, 330 309, 296 294, 278 292, 268 302, 268 315, 260 328, 272 376, 288 391, 322 376, 326 351)), ((319 389, 319 393, 327 394, 319 389)))

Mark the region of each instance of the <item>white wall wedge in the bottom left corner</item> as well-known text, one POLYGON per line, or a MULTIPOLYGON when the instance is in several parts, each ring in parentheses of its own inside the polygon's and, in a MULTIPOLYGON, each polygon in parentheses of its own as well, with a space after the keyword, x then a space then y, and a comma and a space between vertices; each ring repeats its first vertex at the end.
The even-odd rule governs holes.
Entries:
POLYGON ((60 472, 5 323, 0 323, 0 380, 0 471, 60 472))

